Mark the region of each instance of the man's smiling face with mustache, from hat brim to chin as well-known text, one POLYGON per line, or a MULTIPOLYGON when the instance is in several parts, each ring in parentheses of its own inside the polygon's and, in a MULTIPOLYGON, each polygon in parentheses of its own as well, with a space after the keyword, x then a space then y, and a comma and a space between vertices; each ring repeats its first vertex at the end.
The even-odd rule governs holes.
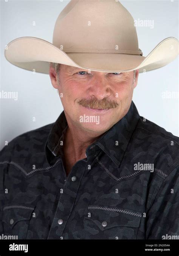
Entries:
POLYGON ((49 75, 59 91, 68 123, 88 132, 102 134, 130 108, 139 70, 103 73, 60 64, 59 82, 54 68, 49 75))

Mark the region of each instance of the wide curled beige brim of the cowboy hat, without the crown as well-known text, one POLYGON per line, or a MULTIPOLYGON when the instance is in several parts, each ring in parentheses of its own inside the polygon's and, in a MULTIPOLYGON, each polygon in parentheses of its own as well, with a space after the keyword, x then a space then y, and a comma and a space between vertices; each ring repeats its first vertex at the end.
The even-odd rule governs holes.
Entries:
POLYGON ((175 37, 162 40, 146 57, 120 53, 65 53, 52 43, 37 37, 19 37, 8 43, 5 57, 11 64, 29 71, 49 74, 49 62, 91 71, 139 73, 163 67, 179 53, 175 37))

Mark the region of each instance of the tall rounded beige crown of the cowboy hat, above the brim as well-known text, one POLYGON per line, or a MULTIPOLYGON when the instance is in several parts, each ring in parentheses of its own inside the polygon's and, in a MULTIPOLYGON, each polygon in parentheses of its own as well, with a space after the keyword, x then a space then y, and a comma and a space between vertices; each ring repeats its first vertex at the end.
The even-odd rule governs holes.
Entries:
POLYGON ((141 53, 134 19, 117 0, 71 0, 56 20, 53 44, 66 53, 141 53))

